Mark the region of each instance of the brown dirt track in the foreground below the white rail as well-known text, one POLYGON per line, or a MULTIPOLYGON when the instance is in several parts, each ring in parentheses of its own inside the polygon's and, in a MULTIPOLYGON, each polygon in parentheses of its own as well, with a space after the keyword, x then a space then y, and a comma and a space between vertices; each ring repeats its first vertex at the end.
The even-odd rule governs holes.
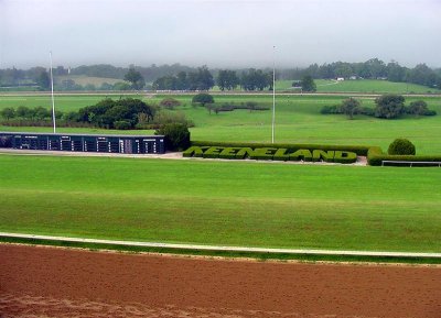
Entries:
POLYGON ((440 318, 441 267, 0 244, 0 317, 440 318))

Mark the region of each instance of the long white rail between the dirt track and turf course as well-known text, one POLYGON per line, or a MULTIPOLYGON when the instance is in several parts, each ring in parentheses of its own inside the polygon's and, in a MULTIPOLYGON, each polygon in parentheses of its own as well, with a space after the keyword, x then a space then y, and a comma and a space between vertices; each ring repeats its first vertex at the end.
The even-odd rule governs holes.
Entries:
POLYGON ((1 238, 46 240, 58 242, 92 243, 121 246, 142 246, 160 248, 193 251, 226 251, 226 252, 252 252, 269 254, 309 254, 309 255, 345 255, 345 256, 386 256, 386 257, 430 257, 441 259, 441 253, 418 253, 418 252, 385 252, 385 251, 335 251, 335 250, 306 250, 306 249, 266 249, 266 248, 246 248, 246 246, 220 246, 220 245, 197 245, 197 244, 178 244, 178 243, 158 243, 158 242, 137 242, 118 240, 99 240, 83 238, 66 238, 52 235, 34 235, 22 233, 0 232, 1 238))

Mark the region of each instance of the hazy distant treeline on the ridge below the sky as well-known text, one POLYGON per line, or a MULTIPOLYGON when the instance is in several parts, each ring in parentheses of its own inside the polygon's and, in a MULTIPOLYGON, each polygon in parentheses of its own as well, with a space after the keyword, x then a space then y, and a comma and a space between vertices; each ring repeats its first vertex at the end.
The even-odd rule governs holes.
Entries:
MULTIPOLYGON (((272 69, 270 68, 208 69, 206 66, 190 67, 181 64, 116 67, 108 64, 99 64, 73 68, 57 66, 53 69, 53 74, 55 78, 63 78, 61 84, 57 84, 56 89, 58 90, 129 90, 132 87, 125 83, 125 76, 129 69, 139 72, 147 83, 143 87, 146 89, 207 90, 214 85, 218 85, 220 89, 226 90, 235 89, 238 86, 244 90, 272 89, 272 69), (114 84, 103 83, 99 86, 80 86, 69 79, 69 76, 109 78, 114 79, 114 84)), ((278 79, 295 80, 305 75, 310 75, 315 79, 387 79, 441 89, 441 68, 430 68, 426 64, 418 64, 413 68, 409 68, 399 65, 395 61, 386 64, 378 58, 372 58, 361 63, 334 62, 323 65, 312 64, 306 68, 277 69, 278 79)), ((47 90, 50 87, 49 69, 41 66, 29 69, 18 69, 15 67, 0 69, 1 87, 33 87, 37 90, 47 90)))

